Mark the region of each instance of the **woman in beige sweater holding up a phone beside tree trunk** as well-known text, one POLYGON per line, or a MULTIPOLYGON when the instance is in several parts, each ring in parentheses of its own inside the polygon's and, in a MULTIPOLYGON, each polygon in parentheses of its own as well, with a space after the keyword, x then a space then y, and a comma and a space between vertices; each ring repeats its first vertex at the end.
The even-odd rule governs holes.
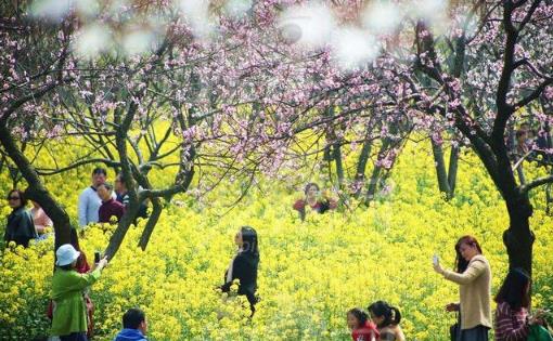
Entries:
POLYGON ((434 259, 434 270, 446 279, 459 285, 460 302, 449 303, 448 312, 459 312, 456 341, 488 341, 491 319, 491 270, 473 236, 463 236, 455 244, 456 271, 441 267, 434 259))

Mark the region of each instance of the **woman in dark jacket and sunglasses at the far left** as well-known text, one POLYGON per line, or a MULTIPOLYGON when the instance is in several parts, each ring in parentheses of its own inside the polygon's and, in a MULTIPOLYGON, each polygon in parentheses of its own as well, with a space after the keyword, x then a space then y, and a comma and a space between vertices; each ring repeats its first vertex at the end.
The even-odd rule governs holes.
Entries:
POLYGON ((14 241, 25 248, 29 246, 30 239, 38 238, 35 224, 30 213, 25 209, 27 199, 20 189, 12 189, 8 194, 8 202, 12 208, 12 212, 8 215, 8 225, 5 226, 4 240, 8 245, 14 241))

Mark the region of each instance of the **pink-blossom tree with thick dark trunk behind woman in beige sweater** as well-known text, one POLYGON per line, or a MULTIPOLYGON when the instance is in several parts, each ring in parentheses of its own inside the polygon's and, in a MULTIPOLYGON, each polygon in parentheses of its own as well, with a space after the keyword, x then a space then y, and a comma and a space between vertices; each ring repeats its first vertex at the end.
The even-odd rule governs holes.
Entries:
MULTIPOLYGON (((540 96, 551 96, 553 64, 545 51, 551 51, 552 14, 553 6, 543 1, 478 2, 459 21, 446 40, 449 44, 417 22, 415 63, 410 73, 399 75, 415 94, 413 110, 437 117, 441 127, 452 127, 468 140, 505 200, 510 226, 503 240, 510 266, 528 272, 535 239, 528 192, 552 182, 553 176, 516 181, 507 126, 537 106, 540 96), (473 31, 471 21, 476 23, 473 31), (443 50, 453 51, 452 58, 447 60, 443 50), (433 87, 423 87, 420 79, 433 87)), ((536 118, 542 127, 551 119, 545 113, 536 118)))

